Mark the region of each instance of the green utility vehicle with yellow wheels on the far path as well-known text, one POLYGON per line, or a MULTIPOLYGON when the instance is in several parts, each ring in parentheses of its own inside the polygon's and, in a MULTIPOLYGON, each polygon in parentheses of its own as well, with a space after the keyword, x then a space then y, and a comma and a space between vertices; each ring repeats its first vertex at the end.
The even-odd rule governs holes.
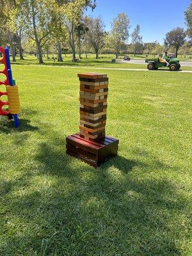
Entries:
POLYGON ((177 71, 180 68, 180 63, 177 58, 168 58, 163 60, 163 58, 156 58, 156 59, 146 59, 148 70, 157 70, 161 67, 169 67, 170 71, 177 71))

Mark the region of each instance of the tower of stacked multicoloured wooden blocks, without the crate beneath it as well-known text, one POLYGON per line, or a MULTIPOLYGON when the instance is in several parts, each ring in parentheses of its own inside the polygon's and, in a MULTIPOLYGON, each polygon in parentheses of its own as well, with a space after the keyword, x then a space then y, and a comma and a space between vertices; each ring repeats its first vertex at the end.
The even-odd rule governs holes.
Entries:
POLYGON ((106 74, 78 74, 80 80, 80 136, 97 141, 105 136, 108 107, 106 74))

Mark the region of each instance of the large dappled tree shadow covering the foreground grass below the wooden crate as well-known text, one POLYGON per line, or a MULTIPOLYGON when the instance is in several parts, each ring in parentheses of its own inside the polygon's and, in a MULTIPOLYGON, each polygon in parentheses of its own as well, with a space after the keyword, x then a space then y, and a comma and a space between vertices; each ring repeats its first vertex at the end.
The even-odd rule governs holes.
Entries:
POLYGON ((1 182, 3 231, 11 230, 2 255, 181 255, 175 241, 187 234, 175 225, 188 214, 186 197, 170 180, 147 177, 174 166, 135 148, 145 163, 118 156, 95 170, 67 156, 60 136, 49 139, 38 145, 36 171, 29 163, 1 182))

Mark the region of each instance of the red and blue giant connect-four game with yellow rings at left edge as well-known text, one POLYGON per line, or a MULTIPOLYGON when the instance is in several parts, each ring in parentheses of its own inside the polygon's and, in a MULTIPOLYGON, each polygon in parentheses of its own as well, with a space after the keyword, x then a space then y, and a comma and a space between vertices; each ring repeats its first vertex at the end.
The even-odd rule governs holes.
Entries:
POLYGON ((0 115, 13 119, 15 127, 19 127, 19 92, 15 80, 12 78, 9 49, 0 47, 0 52, 2 54, 0 64, 4 65, 3 70, 0 70, 0 115), (1 76, 6 76, 4 81, 1 81, 1 76), (6 97, 6 100, 3 97, 6 97))

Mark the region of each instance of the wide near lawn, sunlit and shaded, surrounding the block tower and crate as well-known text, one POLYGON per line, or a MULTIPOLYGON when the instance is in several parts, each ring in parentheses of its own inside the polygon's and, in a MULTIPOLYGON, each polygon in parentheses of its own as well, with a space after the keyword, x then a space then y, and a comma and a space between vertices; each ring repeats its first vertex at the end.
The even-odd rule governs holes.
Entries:
POLYGON ((0 117, 0 255, 190 256, 191 74, 105 70, 120 144, 95 170, 65 154, 88 70, 12 69, 22 114, 19 129, 0 117))

